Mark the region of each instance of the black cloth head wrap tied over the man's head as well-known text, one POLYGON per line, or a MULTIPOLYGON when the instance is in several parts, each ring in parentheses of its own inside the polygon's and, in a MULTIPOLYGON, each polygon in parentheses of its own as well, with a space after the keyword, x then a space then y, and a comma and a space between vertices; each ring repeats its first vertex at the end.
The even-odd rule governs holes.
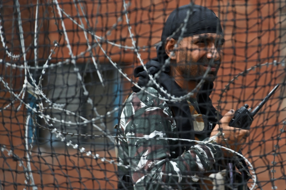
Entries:
POLYGON ((189 19, 186 23, 185 31, 182 37, 189 37, 196 34, 217 33, 223 35, 223 29, 219 18, 215 13, 200 5, 184 5, 175 9, 168 17, 162 31, 162 45, 157 47, 157 57, 160 63, 168 58, 165 53, 165 41, 168 37, 178 39, 182 32, 181 24, 187 17, 187 11, 190 11, 189 19), (177 31, 175 34, 173 34, 177 31))

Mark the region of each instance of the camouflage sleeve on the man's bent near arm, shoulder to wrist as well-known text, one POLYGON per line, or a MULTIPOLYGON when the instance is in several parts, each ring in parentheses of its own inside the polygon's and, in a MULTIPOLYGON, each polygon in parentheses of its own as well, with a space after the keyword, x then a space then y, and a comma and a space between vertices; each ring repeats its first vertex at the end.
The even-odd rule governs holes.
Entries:
POLYGON ((132 106, 132 116, 126 119, 123 133, 127 138, 128 153, 135 165, 132 171, 134 189, 165 189, 162 184, 179 188, 181 183, 197 182, 202 173, 211 169, 221 149, 211 145, 197 144, 181 156, 170 159, 172 144, 166 139, 172 134, 171 116, 158 106, 143 102, 132 106), (144 106, 142 106, 144 104, 144 106), (188 179, 184 175, 190 176, 188 179))

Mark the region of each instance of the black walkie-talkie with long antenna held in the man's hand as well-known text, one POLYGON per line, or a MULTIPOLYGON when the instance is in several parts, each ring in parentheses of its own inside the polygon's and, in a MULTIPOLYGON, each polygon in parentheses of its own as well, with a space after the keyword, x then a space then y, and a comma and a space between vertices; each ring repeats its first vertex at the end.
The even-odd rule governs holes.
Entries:
POLYGON ((271 90, 271 92, 260 102, 260 104, 258 104, 256 108, 254 108, 252 112, 250 112, 251 108, 247 109, 249 107, 248 104, 245 104, 244 106, 236 110, 233 118, 229 122, 229 126, 241 128, 241 129, 249 129, 252 124, 253 117, 255 116, 255 114, 257 114, 257 112, 261 109, 261 107, 265 104, 265 102, 269 100, 270 96, 274 94, 278 86, 279 84, 277 84, 271 90))

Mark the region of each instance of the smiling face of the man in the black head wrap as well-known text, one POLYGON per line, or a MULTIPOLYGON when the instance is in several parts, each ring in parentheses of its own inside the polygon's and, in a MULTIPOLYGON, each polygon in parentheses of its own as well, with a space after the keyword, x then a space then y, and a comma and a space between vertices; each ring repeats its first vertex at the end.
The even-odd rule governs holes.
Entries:
POLYGON ((178 72, 187 81, 200 81, 208 66, 210 71, 205 80, 213 82, 221 65, 224 38, 214 33, 185 37, 178 45, 178 72))

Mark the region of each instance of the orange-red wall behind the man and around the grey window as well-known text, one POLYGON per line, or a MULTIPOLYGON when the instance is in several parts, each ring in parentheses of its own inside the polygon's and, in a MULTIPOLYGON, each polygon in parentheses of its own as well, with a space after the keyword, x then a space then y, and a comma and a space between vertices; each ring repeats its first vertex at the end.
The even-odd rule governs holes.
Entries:
MULTIPOLYGON (((41 1, 40 1, 41 2, 41 1)), ((76 16, 76 10, 72 3, 69 0, 59 1, 60 3, 64 3, 60 5, 65 12, 72 17, 76 16)), ((117 40, 116 43, 121 43, 122 45, 132 46, 132 41, 129 37, 128 27, 126 25, 125 15, 121 15, 120 11, 123 11, 122 2, 117 2, 115 4, 113 1, 109 1, 108 3, 103 3, 100 6, 99 15, 96 16, 97 6, 96 4, 92 4, 92 1, 87 1, 84 5, 86 9, 86 13, 88 15, 88 21, 90 25, 95 28, 96 25, 96 35, 104 36, 109 41, 117 40), (116 14, 114 14, 116 13, 116 14), (93 15, 93 17, 91 16, 93 15), (119 16, 122 16, 122 22, 118 23, 118 27, 112 30, 111 34, 106 36, 106 32, 112 27, 119 16), (98 18, 98 19, 96 19, 98 18), (97 24, 96 23, 97 20, 97 24), (119 39, 123 39, 118 41, 119 39)), ((285 16, 279 16, 281 13, 278 8, 284 7, 285 3, 279 5, 278 3, 267 3, 267 1, 247 1, 247 5, 245 5, 246 1, 196 1, 196 4, 208 6, 219 15, 222 20, 222 25, 225 33, 225 45, 224 45, 224 59, 222 68, 219 71, 219 77, 215 83, 215 90, 212 94, 213 104, 215 106, 218 105, 217 100, 219 100, 219 95, 221 94, 221 90, 225 88, 225 85, 239 72, 250 68, 256 64, 263 64, 265 62, 273 62, 273 60, 280 61, 283 57, 285 57, 285 30, 281 30, 281 27, 285 28, 285 16), (206 3, 207 2, 207 3, 206 3), (227 3, 229 5, 227 6, 227 3), (260 5, 258 4, 260 3, 260 5), (233 6, 234 5, 234 6, 233 6), (220 6, 220 8, 218 8, 220 6), (276 16, 276 17, 275 17, 276 16), (227 19, 224 21, 224 19, 227 19), (279 24, 279 20, 282 21, 281 25, 279 24), (281 31, 282 35, 279 34, 281 31), (279 37, 281 35, 281 37, 279 37), (284 48, 282 47, 284 46, 284 48), (278 50, 281 50, 280 52, 278 50)), ((33 40, 33 34, 31 31, 34 30, 34 23, 31 21, 31 18, 35 18, 35 4, 36 1, 24 1, 19 0, 21 5, 21 17, 23 21, 23 29, 25 33, 25 46, 28 47, 33 40), (27 8, 27 2, 33 7, 27 8), (26 5, 26 6, 24 6, 26 5)), ((5 5, 12 5, 13 2, 8 2, 5 5)), ((132 33, 134 35, 138 35, 139 38, 136 39, 137 46, 143 47, 148 45, 154 45, 160 41, 161 30, 163 27, 163 23, 167 18, 167 15, 177 6, 187 4, 187 1, 171 1, 170 3, 166 3, 164 1, 154 0, 152 1, 135 1, 132 0, 130 7, 128 8, 128 17, 130 19, 130 24, 132 25, 132 33), (136 8, 138 10, 136 10, 136 8), (166 9, 166 16, 163 16, 163 9, 166 9), (143 23, 140 23, 143 21, 143 23), (135 25, 136 23, 136 25, 135 25), (152 31, 152 33, 151 33, 152 31)), ((80 7, 78 7, 80 8, 80 7)), ((66 42, 64 40, 64 35, 62 35, 61 40, 59 33, 56 32, 57 26, 54 24, 52 8, 47 7, 45 5, 40 6, 39 17, 48 18, 43 21, 43 26, 40 29, 39 34, 39 50, 38 54, 40 58, 45 60, 50 52, 50 48, 47 48, 48 45, 53 47, 53 41, 56 40, 61 44, 61 47, 56 49, 56 53, 53 54, 53 58, 51 63, 55 63, 60 60, 65 60, 66 58, 70 58, 69 51, 67 49, 66 42), (45 12, 46 11, 46 12, 45 12)), ((56 7, 54 6, 54 11, 56 12, 56 17, 58 17, 56 7)), ((285 7, 281 10, 285 15, 285 7)), ((4 15, 4 29, 6 41, 9 41, 8 47, 11 48, 11 35, 12 32, 12 23, 11 19, 13 9, 10 7, 5 7, 2 15, 4 15)), ((81 16, 83 16, 81 14, 81 16)), ((61 21, 56 19, 59 23, 59 29, 62 29, 61 21)), ((77 22, 80 22, 78 18, 75 18, 77 22)), ((84 25, 86 25, 86 21, 84 21, 84 25)), ((2 21, 3 23, 3 21, 2 21)), ((69 19, 64 16, 65 28, 67 30, 67 35, 70 43, 72 44, 72 52, 76 55, 80 52, 86 50, 86 39, 84 37, 84 32, 72 23, 69 19)), ((92 41, 92 37, 88 35, 89 41, 92 41)), ((13 45, 15 48, 13 52, 20 53, 19 50, 19 40, 14 39, 13 45)), ((102 47, 106 50, 107 54, 110 55, 114 62, 124 62, 126 66, 129 68, 124 68, 124 72, 128 74, 130 78, 132 78, 132 72, 135 66, 139 65, 138 58, 134 54, 132 50, 123 50, 117 47, 113 47, 111 45, 106 45, 106 43, 102 43, 102 47)), ((146 63, 150 58, 154 58, 156 56, 156 50, 154 47, 150 48, 150 51, 140 50, 141 58, 144 63, 146 63)), ((97 61, 104 64, 104 62, 108 62, 103 52, 96 47, 93 50, 94 55, 97 55, 97 61)), ((16 63, 16 60, 10 60, 4 53, 3 49, 0 51, 1 57, 7 62, 16 63)), ((85 56, 89 54, 86 53, 85 56)), ((27 57, 29 60, 34 58, 33 48, 27 52, 27 57)), ((87 61, 87 58, 79 58, 77 59, 78 63, 84 63, 87 61)), ((19 63, 18 63, 19 64, 19 63)), ((21 64, 23 64, 23 60, 21 60, 21 64)), ((29 62, 29 64, 33 65, 33 61, 29 62)), ((252 70, 246 76, 240 76, 238 80, 235 80, 235 84, 230 85, 230 90, 223 94, 224 97, 220 103, 221 113, 227 112, 227 110, 231 108, 239 108, 245 103, 248 103, 251 107, 257 105, 257 103, 273 88, 273 85, 279 82, 282 82, 284 79, 283 67, 262 67, 252 70), (272 72, 272 73, 271 73, 272 72), (271 84, 271 86, 263 86, 271 84), (246 86, 247 88, 242 88, 246 86), (257 86, 257 88, 255 88, 257 86), (253 100, 254 99, 254 100, 253 100)), ((9 67, 1 66, 1 74, 2 76, 7 76, 5 78, 6 82, 11 84, 13 89, 18 89, 16 92, 21 89, 23 85, 23 70, 15 70, 9 67), (12 81, 13 79, 13 81, 12 81)), ((124 80, 126 90, 130 89, 130 82, 126 82, 124 80)), ((3 89, 3 84, 1 84, 1 89, 3 89)), ((253 123, 253 128, 251 129, 251 136, 249 138, 249 145, 246 145, 243 149, 244 155, 246 157, 252 156, 250 158, 251 163, 257 168, 256 172, 258 174, 258 179, 263 186, 263 189, 270 189, 271 183, 270 181, 270 169, 267 169, 268 165, 271 165, 271 161, 273 161, 273 155, 271 154, 274 147, 273 145, 276 143, 275 138, 277 137, 278 130, 281 128, 281 121, 285 119, 284 112, 275 113, 276 110, 282 110, 284 107, 283 102, 278 101, 277 92, 274 97, 275 100, 271 100, 268 103, 264 110, 266 113, 257 116, 255 122, 253 123), (280 105, 280 103, 282 105, 280 105), (270 107, 271 105, 271 107, 270 107), (279 108, 280 106, 280 108, 279 108), (274 113, 270 112, 274 111, 274 113), (270 115, 268 115, 270 114, 270 115), (269 118, 269 119, 267 119, 269 118), (279 123, 279 125, 274 126, 274 124, 279 123), (255 126, 259 126, 256 128, 255 126), (254 140, 253 142, 251 140, 254 140), (261 157, 257 157, 257 156, 261 157), (256 156, 256 157, 255 157, 256 156)), ((1 97, 11 98, 11 94, 9 92, 0 92, 1 97)), ((280 92, 280 96, 283 97, 283 92, 280 92)), ((9 103, 9 99, 1 100, 2 107, 9 103)), ((19 104, 14 105, 17 107, 19 104)), ((5 112, 2 112, 3 122, 0 124, 0 130, 2 131, 2 135, 0 138, 0 144, 9 145, 9 143, 14 146, 20 145, 15 150, 19 156, 24 157, 23 152, 23 123, 24 115, 26 114, 25 110, 22 108, 19 112, 15 112, 15 109, 10 109, 5 112), (5 123, 5 124, 3 124, 5 123), (9 142, 9 143, 8 143, 9 142)), ((285 134, 282 136, 285 138, 285 134)), ((281 144, 284 145, 285 140, 281 141, 281 144)), ((53 188, 54 184, 61 184, 61 186, 69 187, 66 185, 67 179, 64 177, 64 173, 67 173, 70 176, 75 178, 70 178, 73 187, 79 187, 84 189, 85 187, 88 189, 116 189, 116 177, 114 176, 114 165, 111 164, 103 164, 100 161, 94 161, 90 159, 79 158, 76 155, 74 150, 62 150, 57 149, 56 152, 69 152, 69 156, 59 156, 58 160, 52 158, 49 153, 43 153, 43 158, 37 157, 37 149, 34 149, 33 159, 35 160, 35 164, 32 165, 32 170, 35 171, 34 178, 37 184, 49 184, 50 189, 53 188), (55 166, 49 165, 49 167, 54 167, 55 177, 51 175, 51 170, 48 167, 47 163, 52 163, 54 161, 55 166), (87 161, 86 161, 87 160, 87 161), (86 161, 86 162, 85 162, 86 161), (38 163, 37 163, 38 162, 38 163), (91 163, 93 168, 92 171, 89 171, 85 165, 85 163, 91 163), (82 167, 77 171, 75 168, 68 168, 70 171, 65 168, 60 168, 59 165, 63 167, 77 165, 78 167, 82 167), (43 172, 42 175, 36 174, 37 171, 41 170, 43 172), (105 173, 104 170, 110 171, 109 173, 105 173), (62 173, 62 171, 64 171, 62 173), (84 181, 84 176, 87 178, 91 178, 92 174, 95 179, 100 180, 87 180, 84 181), (79 183, 78 178, 79 175, 82 176, 82 184, 79 183), (104 177, 107 177, 109 180, 115 181, 105 181, 104 177), (43 180, 41 182, 41 180, 43 180), (114 186, 112 186, 112 184, 114 186), (85 185, 85 186, 84 186, 85 185)), ((41 150, 43 151, 43 150, 41 150)), ((49 152, 49 149, 45 150, 49 152)), ((279 149, 280 152, 285 152, 283 149, 279 149)), ((100 155, 104 155, 106 152, 100 152, 100 155)), ((114 152, 111 151, 112 157, 114 157, 114 152)), ((7 156, 7 155, 6 155, 7 156)), ((106 155, 107 156, 107 155, 106 155)), ((285 153, 279 155, 279 158, 276 160, 285 160, 285 153)), ((10 164, 10 167, 16 169, 17 164, 12 159, 5 160, 3 158, 0 159, 0 163, 3 163, 3 168, 8 169, 6 162, 10 164)), ((282 173, 285 176, 283 171, 284 166, 275 167, 277 173, 275 174, 275 178, 279 178, 282 176, 282 173)), ((21 170, 20 168, 17 168, 21 170)), ((5 171, 0 172, 0 179, 3 181, 17 181, 17 183, 24 182, 23 174, 18 175, 17 180, 15 178, 15 172, 13 173, 14 178, 11 177, 11 172, 5 171), (5 176, 5 179, 4 179, 5 176)), ((6 184, 7 185, 7 184, 6 184)), ((278 189, 285 188, 285 180, 278 180, 275 182, 275 185, 278 189)), ((13 185, 7 186, 6 189, 12 189, 13 185)), ((17 187, 19 188, 19 186, 17 187)), ((22 188, 22 187, 21 187, 22 188)), ((46 189, 46 188, 45 188, 46 189)))

